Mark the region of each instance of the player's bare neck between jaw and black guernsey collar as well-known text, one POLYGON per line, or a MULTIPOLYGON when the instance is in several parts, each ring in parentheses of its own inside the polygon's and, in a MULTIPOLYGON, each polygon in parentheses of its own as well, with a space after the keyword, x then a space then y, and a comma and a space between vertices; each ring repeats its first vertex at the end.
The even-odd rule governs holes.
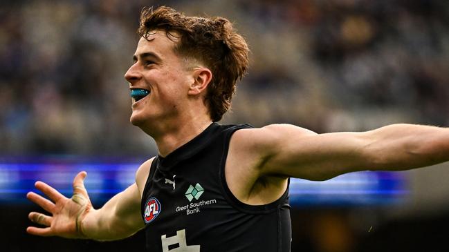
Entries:
POLYGON ((142 129, 153 137, 158 146, 159 155, 165 157, 176 150, 176 148, 194 139, 194 137, 208 128, 210 124, 212 124, 212 120, 209 117, 203 119, 190 117, 187 120, 177 119, 174 122, 159 124, 151 129, 142 129))

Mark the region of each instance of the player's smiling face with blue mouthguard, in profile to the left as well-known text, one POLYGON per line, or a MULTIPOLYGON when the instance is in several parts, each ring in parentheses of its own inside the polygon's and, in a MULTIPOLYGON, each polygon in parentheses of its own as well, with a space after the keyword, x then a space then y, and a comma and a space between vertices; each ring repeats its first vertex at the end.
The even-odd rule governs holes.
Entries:
POLYGON ((176 119, 185 105, 193 77, 174 53, 176 40, 172 39, 157 30, 138 42, 134 64, 125 74, 131 95, 135 95, 130 118, 135 126, 176 119))

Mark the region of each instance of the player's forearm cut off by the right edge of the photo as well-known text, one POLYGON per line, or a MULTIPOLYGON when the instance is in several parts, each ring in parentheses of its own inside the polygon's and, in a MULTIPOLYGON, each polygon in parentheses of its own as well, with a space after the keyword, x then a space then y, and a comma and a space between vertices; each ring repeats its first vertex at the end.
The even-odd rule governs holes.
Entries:
POLYGON ((393 124, 369 131, 372 170, 401 171, 449 160, 449 129, 393 124))

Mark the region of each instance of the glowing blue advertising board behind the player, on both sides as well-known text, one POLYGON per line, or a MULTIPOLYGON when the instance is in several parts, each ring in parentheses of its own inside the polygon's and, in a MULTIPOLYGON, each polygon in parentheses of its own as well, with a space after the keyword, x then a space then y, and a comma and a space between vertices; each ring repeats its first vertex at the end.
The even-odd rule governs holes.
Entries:
MULTIPOLYGON (((134 183, 145 159, 27 157, 0 159, 0 203, 27 204, 26 193, 37 180, 71 197, 73 177, 86 171, 85 186, 94 205, 101 205, 134 183)), ((324 182, 291 179, 293 206, 372 205, 400 202, 407 195, 406 177, 399 172, 358 172, 324 182)), ((37 191, 36 191, 37 192, 37 191)))

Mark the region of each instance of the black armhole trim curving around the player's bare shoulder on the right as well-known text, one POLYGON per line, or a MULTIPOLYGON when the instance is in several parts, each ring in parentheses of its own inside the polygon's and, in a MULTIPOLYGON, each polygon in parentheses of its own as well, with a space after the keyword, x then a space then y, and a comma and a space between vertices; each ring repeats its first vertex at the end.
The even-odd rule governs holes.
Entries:
POLYGON ((225 166, 226 166, 226 159, 228 158, 230 139, 232 137, 232 134, 234 134, 237 130, 241 130, 244 128, 254 128, 254 127, 250 126, 249 124, 237 125, 232 128, 229 128, 224 135, 223 153, 221 155, 221 162, 219 168, 219 180, 221 184, 221 190, 223 196, 228 201, 230 206, 234 207, 238 211, 249 214, 272 213, 273 211, 276 211, 277 209, 280 209, 281 207, 286 206, 286 204, 288 204, 288 188, 290 187, 290 179, 288 179, 287 188, 284 194, 282 194, 282 196, 279 199, 275 200, 274 202, 264 205, 250 205, 241 202, 230 191, 228 183, 226 182, 225 166))

